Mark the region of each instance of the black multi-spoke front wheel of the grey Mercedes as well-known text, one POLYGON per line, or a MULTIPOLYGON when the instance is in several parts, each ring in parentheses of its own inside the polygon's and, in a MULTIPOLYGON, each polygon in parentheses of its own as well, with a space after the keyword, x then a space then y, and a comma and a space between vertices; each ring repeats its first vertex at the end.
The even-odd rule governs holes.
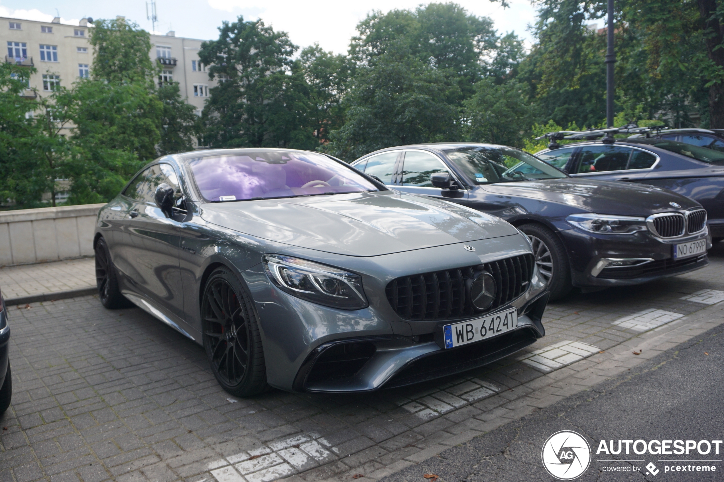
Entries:
POLYGON ((227 267, 214 270, 201 298, 203 348, 216 381, 236 397, 269 390, 251 297, 227 267))

